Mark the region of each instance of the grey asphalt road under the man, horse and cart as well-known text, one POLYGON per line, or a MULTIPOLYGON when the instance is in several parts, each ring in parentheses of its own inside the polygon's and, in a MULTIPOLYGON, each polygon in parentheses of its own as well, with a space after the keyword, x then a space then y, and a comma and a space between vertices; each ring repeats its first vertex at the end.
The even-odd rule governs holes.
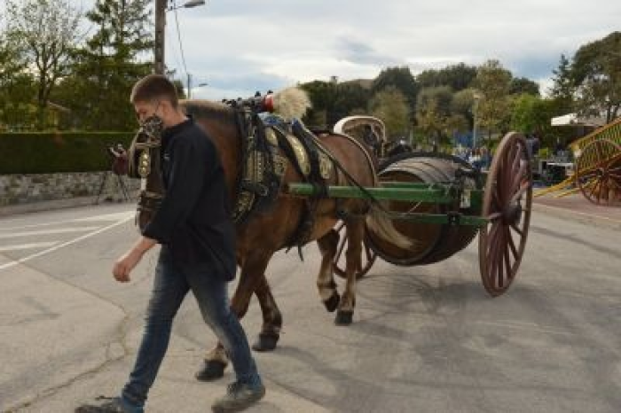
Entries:
MULTIPOLYGON (((114 395, 135 357, 156 253, 131 284, 111 276, 137 237, 132 206, 0 218, 0 411, 64 412, 114 395)), ((279 253, 268 278, 284 316, 255 354, 268 394, 249 411, 621 411, 621 236, 533 214, 520 274, 491 299, 477 245, 427 267, 378 262, 349 327, 318 300, 315 245, 279 253)), ((260 327, 251 304, 243 324, 260 327)), ((232 380, 198 383, 214 336, 192 297, 180 310, 148 411, 192 413, 232 380)))

